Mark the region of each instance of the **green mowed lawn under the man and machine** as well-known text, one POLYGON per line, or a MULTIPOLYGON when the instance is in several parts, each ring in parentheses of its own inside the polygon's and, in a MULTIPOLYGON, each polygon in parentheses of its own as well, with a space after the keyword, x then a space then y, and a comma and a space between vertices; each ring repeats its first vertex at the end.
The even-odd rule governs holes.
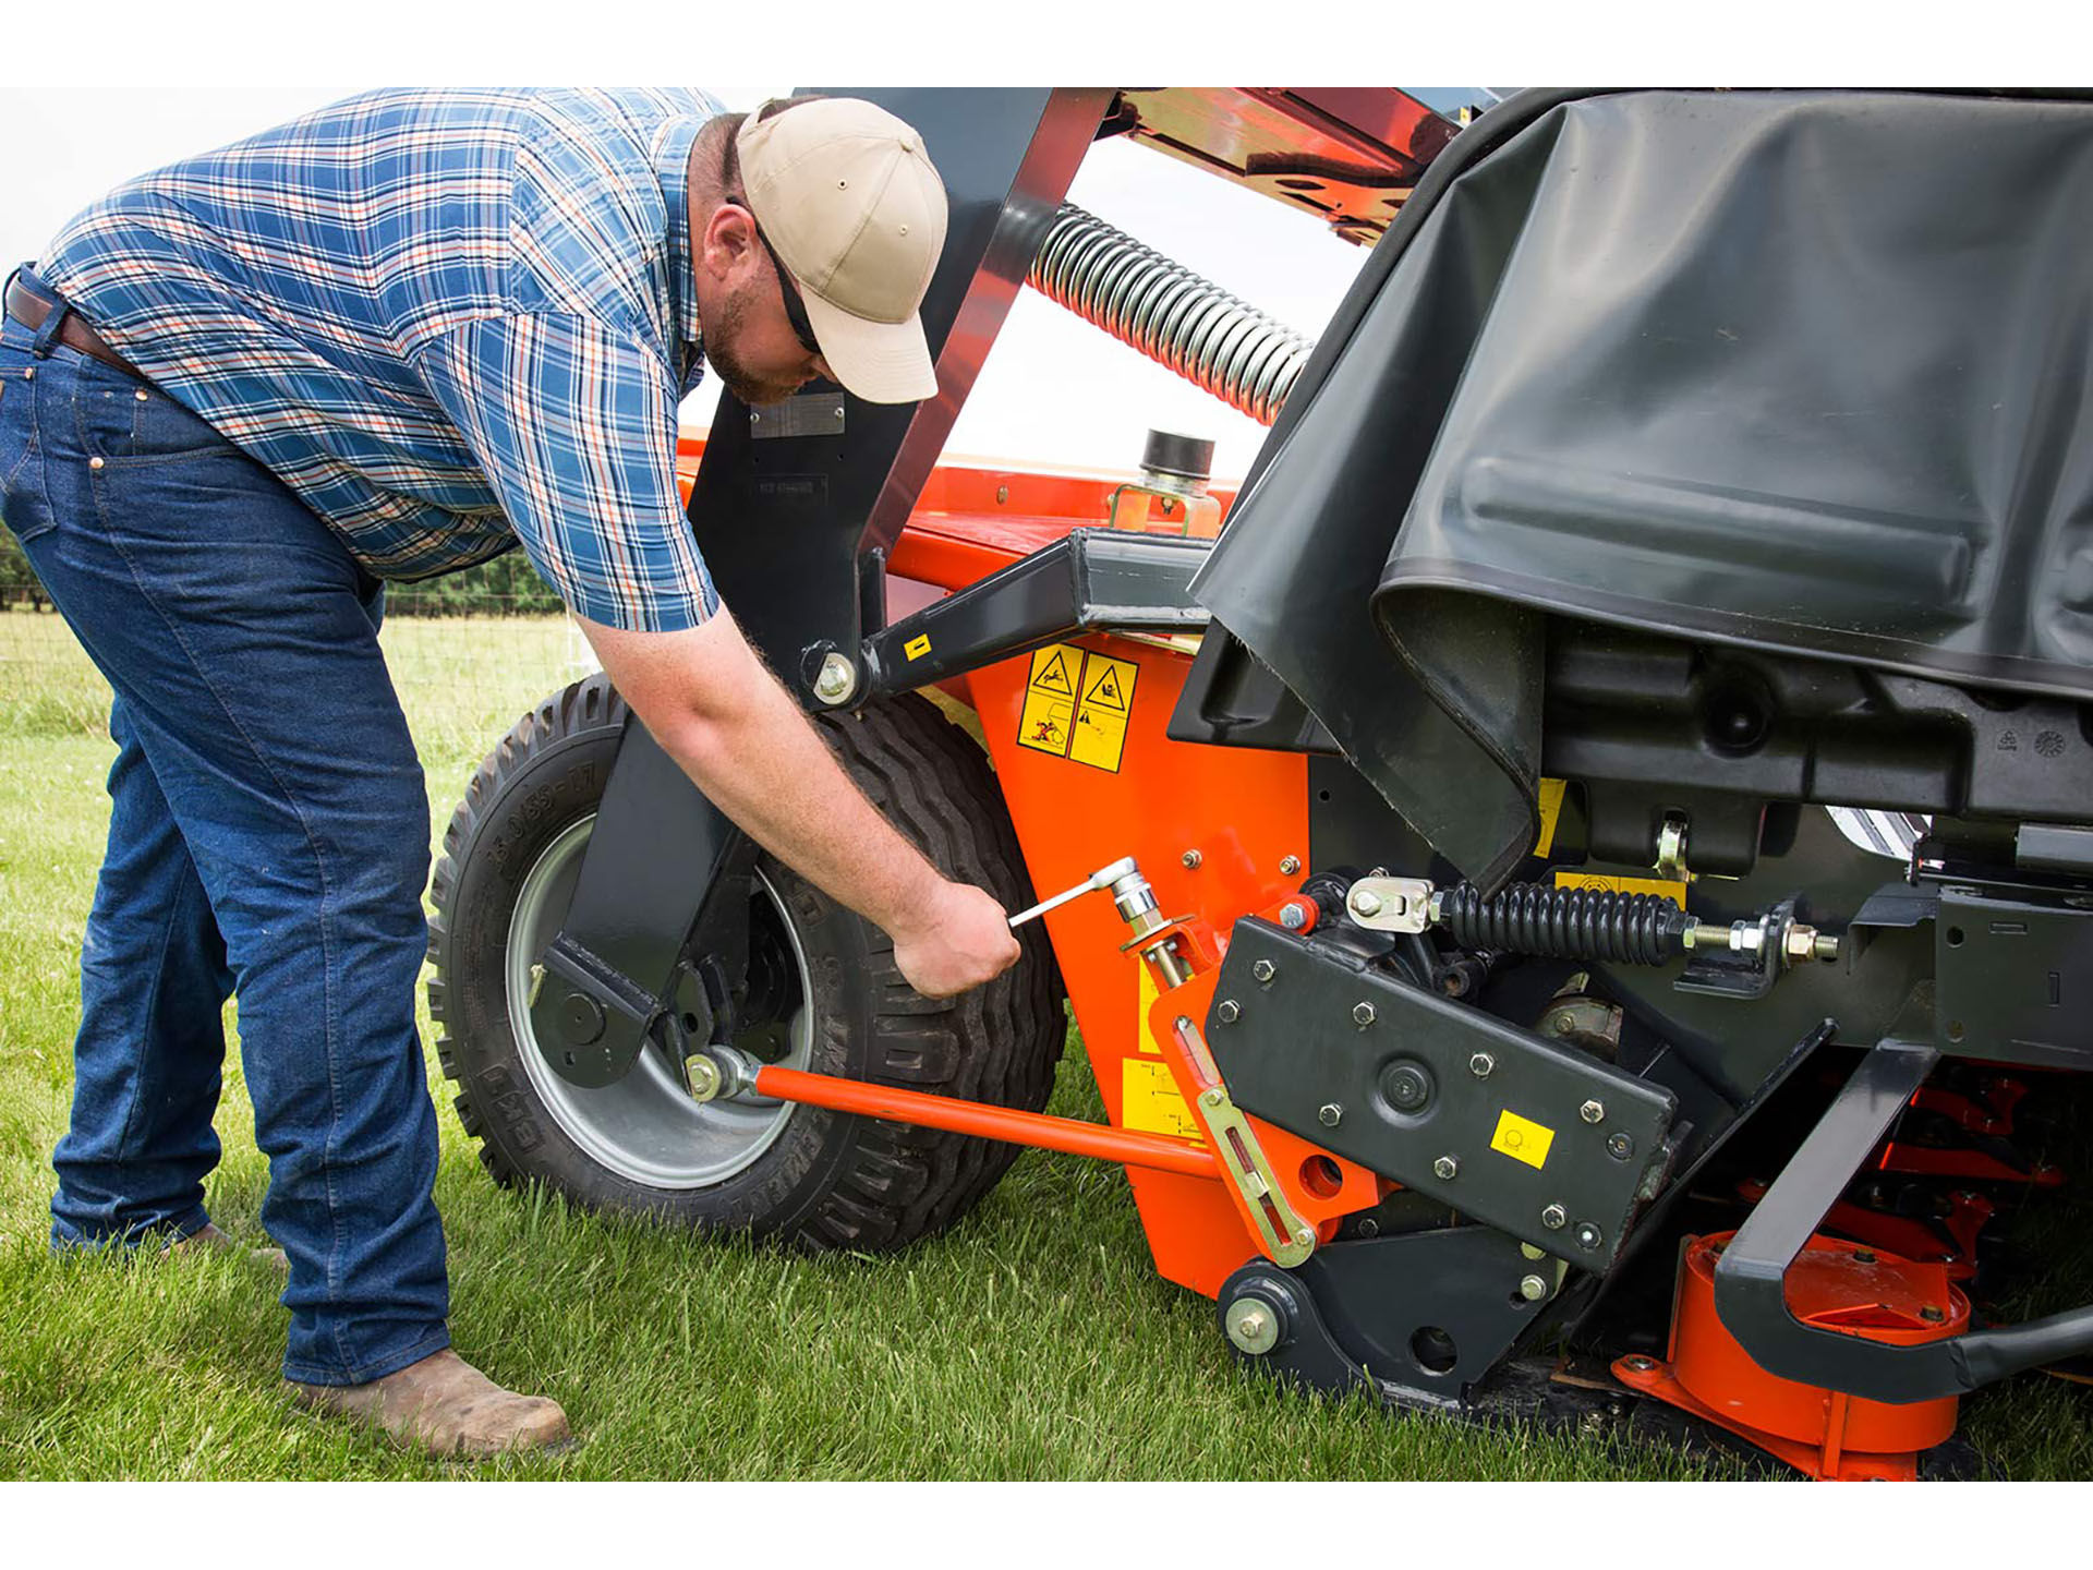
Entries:
MULTIPOLYGON (((479 756, 571 674, 569 632, 400 620, 385 643, 442 831, 479 756)), ((1668 1449, 1482 1432, 1245 1377, 1212 1304, 1155 1277, 1120 1170, 1072 1156, 1026 1153, 952 1233, 894 1258, 808 1258, 502 1191, 433 1051, 458 1350, 559 1396, 584 1442, 465 1467, 297 1413, 266 1264, 46 1248, 107 825, 105 703, 57 618, 0 611, 0 1478, 1725 1476, 1668 1449)), ((1074 1038, 1053 1112, 1101 1116, 1074 1038)), ((262 1243, 237 1055, 218 1128, 211 1212, 262 1243)), ((2030 1239, 2070 1243, 2051 1292, 2093 1277, 2085 1235, 2083 1216, 2051 1212, 2030 1239)), ((2011 1476, 2093 1472, 2087 1388, 2022 1377, 1965 1413, 2011 1476)))

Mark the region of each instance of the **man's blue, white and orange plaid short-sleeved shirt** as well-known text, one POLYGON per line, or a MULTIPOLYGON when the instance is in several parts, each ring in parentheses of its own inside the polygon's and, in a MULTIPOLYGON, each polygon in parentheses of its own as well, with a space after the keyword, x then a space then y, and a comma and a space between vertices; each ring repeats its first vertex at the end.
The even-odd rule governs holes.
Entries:
POLYGON ((373 92, 140 176, 38 276, 381 578, 519 540, 571 609, 703 622, 699 92, 373 92))

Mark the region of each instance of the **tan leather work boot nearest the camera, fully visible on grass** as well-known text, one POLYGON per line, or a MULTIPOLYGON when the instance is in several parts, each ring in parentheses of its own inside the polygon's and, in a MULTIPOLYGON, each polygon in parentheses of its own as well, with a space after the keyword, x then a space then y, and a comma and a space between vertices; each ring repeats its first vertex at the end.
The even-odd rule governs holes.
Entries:
POLYGON ((573 1442, 557 1400, 502 1390, 450 1348, 370 1384, 287 1384, 301 1407, 354 1417, 435 1455, 483 1457, 573 1442))

